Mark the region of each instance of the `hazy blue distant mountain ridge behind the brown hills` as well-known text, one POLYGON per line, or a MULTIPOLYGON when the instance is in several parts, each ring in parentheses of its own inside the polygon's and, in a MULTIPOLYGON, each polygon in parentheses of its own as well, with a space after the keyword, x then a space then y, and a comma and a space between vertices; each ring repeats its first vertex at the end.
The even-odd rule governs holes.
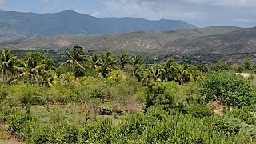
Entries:
MULTIPOLYGON (((96 18, 66 10, 54 14, 0 11, 0 39, 59 34, 113 34, 138 30, 177 30, 195 26, 179 20, 96 18)), ((0 40, 1 41, 1 40, 0 40)))

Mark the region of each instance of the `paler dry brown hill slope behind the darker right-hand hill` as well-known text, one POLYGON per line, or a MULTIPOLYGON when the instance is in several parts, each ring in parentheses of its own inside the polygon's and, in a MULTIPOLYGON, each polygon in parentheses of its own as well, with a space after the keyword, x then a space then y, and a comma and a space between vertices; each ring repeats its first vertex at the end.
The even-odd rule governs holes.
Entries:
POLYGON ((79 44, 85 46, 87 50, 162 50, 166 48, 165 45, 168 42, 174 42, 178 39, 226 34, 237 30, 242 30, 242 28, 233 26, 215 26, 202 29, 184 29, 167 32, 138 31, 123 34, 57 35, 22 38, 10 42, 1 42, 0 47, 11 47, 15 50, 58 50, 70 48, 75 44, 79 44))

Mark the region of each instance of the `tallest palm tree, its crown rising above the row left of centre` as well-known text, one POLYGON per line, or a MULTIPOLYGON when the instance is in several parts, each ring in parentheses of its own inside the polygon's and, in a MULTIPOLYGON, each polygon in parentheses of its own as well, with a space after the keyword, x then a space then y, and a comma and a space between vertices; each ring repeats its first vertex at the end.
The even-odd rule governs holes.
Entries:
POLYGON ((80 64, 80 62, 86 61, 86 54, 83 52, 83 48, 81 46, 74 46, 72 53, 69 51, 66 51, 66 55, 69 58, 66 62, 64 62, 62 65, 69 64, 70 66, 79 66, 83 68, 83 66, 80 64))

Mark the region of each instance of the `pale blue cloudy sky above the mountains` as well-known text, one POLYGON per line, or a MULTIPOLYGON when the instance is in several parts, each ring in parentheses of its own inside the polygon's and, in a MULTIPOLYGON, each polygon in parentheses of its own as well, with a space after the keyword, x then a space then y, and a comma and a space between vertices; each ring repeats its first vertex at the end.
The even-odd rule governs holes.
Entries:
POLYGON ((256 26, 256 0, 0 0, 0 10, 183 20, 198 27, 256 26))

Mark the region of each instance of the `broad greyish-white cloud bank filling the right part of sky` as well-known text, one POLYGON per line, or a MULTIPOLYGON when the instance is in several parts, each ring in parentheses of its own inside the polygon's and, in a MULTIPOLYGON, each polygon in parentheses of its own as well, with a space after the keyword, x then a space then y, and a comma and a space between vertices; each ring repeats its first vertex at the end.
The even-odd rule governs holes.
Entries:
POLYGON ((197 26, 256 26, 248 21, 256 17, 256 0, 113 0, 105 5, 95 15, 181 19, 197 26))

